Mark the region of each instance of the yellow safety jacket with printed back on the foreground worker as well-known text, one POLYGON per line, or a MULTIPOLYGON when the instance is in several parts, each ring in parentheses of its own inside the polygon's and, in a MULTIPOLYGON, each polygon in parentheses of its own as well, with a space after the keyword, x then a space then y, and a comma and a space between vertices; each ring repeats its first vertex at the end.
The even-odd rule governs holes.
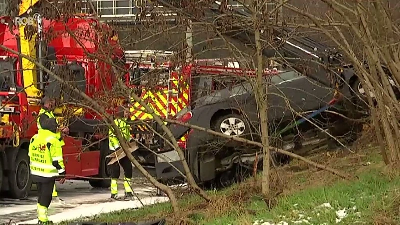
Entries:
POLYGON ((65 175, 62 146, 56 134, 42 130, 34 135, 29 145, 30 173, 40 177, 65 175))

